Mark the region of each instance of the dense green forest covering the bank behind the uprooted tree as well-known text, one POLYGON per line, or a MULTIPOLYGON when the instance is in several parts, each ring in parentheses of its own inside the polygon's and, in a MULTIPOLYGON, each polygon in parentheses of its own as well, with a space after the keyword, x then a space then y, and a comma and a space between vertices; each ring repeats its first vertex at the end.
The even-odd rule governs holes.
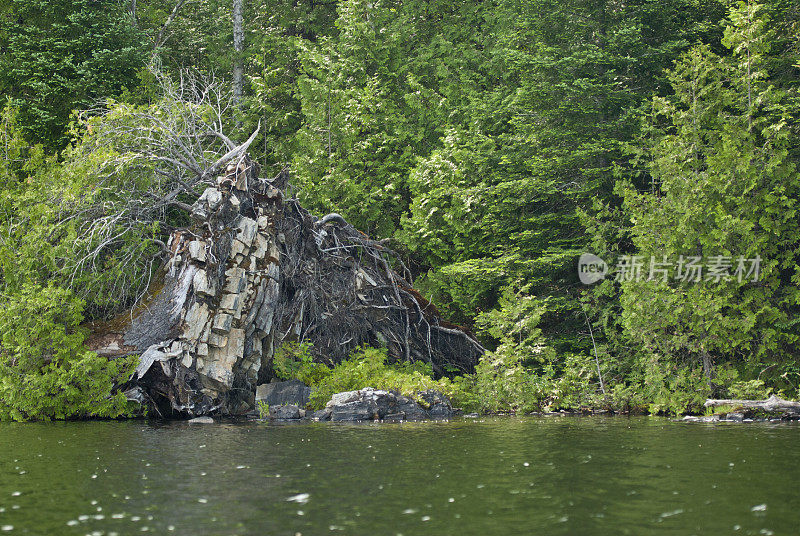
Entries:
POLYGON ((202 193, 132 141, 194 128, 186 80, 477 334, 437 379, 464 407, 800 395, 794 0, 2 0, 0 417, 130 411, 135 357, 84 326, 141 299, 202 193))

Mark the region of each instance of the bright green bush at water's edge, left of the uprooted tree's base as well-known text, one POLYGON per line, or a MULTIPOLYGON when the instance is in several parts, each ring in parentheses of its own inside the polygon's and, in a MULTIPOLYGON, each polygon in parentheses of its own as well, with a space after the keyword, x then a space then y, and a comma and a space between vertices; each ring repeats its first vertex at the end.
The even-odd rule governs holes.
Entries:
POLYGON ((114 387, 135 359, 107 360, 83 346, 83 303, 69 291, 26 284, 0 307, 0 419, 118 417, 131 412, 114 387))

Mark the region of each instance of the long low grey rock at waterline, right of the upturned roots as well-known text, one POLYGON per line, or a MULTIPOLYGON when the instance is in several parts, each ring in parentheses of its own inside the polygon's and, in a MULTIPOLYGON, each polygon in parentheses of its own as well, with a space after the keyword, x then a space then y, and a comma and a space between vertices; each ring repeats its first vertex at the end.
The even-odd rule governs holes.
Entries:
MULTIPOLYGON (((333 395, 323 411, 330 415, 331 421, 351 422, 449 419, 453 416, 450 401, 443 394, 425 391, 420 393, 420 399, 427 407, 411 397, 367 387, 333 395)), ((323 415, 320 414, 319 417, 323 415)))

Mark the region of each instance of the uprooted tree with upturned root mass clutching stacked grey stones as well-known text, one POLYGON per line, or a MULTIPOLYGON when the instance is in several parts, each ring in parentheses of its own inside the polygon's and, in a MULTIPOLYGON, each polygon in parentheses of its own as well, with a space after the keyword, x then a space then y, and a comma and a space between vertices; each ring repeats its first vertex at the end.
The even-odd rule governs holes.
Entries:
POLYGON ((162 265, 109 282, 130 309, 92 325, 98 353, 141 354, 129 397, 162 414, 244 413, 276 350, 293 341, 328 364, 369 345, 437 374, 474 367, 483 348, 440 319, 384 241, 338 214, 308 213, 288 195, 286 170, 260 176, 247 154, 258 131, 238 145, 225 135, 230 101, 218 85, 165 88, 168 106, 94 121, 93 135, 113 148, 98 160, 108 177, 99 184, 113 188, 122 174, 129 190, 80 205, 88 238, 65 268, 100 270, 109 254, 162 265), (154 246, 149 258, 136 238, 154 246))

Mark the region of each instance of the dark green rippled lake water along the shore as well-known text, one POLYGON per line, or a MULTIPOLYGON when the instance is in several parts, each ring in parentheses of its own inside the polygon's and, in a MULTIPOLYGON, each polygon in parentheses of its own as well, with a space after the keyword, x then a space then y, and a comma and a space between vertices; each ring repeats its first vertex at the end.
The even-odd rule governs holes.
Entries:
POLYGON ((800 533, 800 426, 0 423, 0 533, 800 533))

